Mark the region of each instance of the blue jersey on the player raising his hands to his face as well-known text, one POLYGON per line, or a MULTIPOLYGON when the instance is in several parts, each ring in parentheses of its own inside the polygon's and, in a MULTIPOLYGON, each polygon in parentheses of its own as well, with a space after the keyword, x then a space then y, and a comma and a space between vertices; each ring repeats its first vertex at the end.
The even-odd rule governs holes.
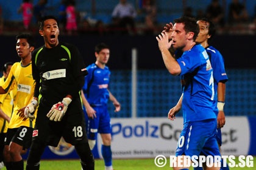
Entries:
POLYGON ((201 44, 183 52, 177 59, 180 65, 184 123, 216 118, 213 87, 213 69, 201 44))

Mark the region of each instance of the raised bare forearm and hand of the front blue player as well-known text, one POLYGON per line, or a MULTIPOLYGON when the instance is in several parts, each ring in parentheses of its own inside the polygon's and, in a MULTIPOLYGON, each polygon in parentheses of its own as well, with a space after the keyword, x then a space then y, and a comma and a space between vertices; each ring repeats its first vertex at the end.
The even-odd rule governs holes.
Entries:
POLYGON ((169 73, 171 73, 171 75, 179 75, 181 73, 180 65, 174 56, 169 52, 172 40, 169 41, 168 33, 162 32, 157 36, 157 41, 166 69, 169 71, 169 73))

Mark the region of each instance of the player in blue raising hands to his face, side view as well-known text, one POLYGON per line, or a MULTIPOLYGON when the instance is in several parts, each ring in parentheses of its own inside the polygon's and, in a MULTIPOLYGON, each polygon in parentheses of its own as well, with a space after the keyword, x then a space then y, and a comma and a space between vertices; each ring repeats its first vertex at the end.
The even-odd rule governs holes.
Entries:
MULTIPOLYGON (((204 47, 195 42, 199 26, 195 19, 188 17, 174 19, 174 22, 171 40, 169 33, 162 32, 157 36, 157 41, 166 69, 171 75, 180 75, 182 81, 180 100, 168 112, 168 118, 174 120, 177 112, 181 108, 183 110, 183 129, 177 144, 176 156, 199 156, 201 151, 207 152, 208 155, 220 156, 215 138, 218 109, 215 109, 213 101, 213 70, 204 47), (174 58, 169 52, 171 46, 183 52, 180 58, 174 58)), ((174 169, 190 168, 181 161, 177 165, 180 166, 174 169)))

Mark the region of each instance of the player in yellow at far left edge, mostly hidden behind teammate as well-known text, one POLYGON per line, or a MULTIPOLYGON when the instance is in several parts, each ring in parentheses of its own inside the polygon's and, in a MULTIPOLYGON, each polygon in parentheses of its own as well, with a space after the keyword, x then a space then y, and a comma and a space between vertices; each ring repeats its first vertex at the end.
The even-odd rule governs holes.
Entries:
MULTIPOLYGON (((4 84, 4 81, 10 73, 10 69, 13 63, 8 62, 2 67, 2 77, 0 78, 0 86, 4 84)), ((4 151, 4 138, 7 132, 8 124, 13 110, 13 98, 16 90, 0 95, 0 153, 4 151)), ((0 154, 0 169, 4 167, 4 155, 0 154)))

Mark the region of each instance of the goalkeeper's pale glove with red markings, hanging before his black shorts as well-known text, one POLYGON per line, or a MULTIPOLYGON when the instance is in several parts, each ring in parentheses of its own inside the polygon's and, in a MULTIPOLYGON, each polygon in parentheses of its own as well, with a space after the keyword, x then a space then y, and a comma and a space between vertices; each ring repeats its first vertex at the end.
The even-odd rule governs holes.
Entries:
POLYGON ((66 113, 66 109, 68 109, 68 104, 71 103, 71 98, 63 98, 62 102, 54 104, 52 109, 46 115, 50 120, 53 121, 61 121, 63 116, 66 113))

